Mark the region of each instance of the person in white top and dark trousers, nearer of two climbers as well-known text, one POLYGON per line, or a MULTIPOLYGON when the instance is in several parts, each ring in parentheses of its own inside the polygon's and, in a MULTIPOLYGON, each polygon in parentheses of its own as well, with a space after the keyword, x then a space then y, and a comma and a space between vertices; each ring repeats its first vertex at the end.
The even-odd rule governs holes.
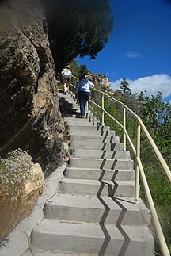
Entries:
POLYGON ((89 100, 90 89, 94 87, 93 82, 86 79, 86 74, 81 75, 76 85, 75 96, 78 97, 80 104, 81 117, 85 116, 86 102, 89 100))

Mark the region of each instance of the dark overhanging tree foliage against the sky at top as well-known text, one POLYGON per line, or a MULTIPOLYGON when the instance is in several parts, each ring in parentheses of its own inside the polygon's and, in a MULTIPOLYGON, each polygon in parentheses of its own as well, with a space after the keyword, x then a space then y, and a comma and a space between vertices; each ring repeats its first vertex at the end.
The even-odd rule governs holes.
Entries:
POLYGON ((108 0, 42 1, 57 70, 78 55, 95 59, 113 27, 108 0))

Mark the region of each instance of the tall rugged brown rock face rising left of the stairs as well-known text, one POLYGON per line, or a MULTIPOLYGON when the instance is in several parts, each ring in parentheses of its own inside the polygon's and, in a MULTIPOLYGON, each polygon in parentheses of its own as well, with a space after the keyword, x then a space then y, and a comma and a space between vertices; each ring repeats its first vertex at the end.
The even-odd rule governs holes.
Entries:
POLYGON ((63 120, 44 11, 0 2, 0 155, 20 147, 47 176, 63 160, 63 120))

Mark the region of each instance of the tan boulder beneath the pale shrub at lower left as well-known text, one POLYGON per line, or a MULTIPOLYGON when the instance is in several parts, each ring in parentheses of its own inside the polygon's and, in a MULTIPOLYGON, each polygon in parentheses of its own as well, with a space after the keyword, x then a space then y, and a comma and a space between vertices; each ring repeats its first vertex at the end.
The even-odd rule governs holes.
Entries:
POLYGON ((43 193, 44 174, 38 163, 32 166, 31 173, 30 181, 22 182, 22 193, 19 197, 13 199, 10 192, 0 190, 0 241, 32 212, 40 193, 43 193))

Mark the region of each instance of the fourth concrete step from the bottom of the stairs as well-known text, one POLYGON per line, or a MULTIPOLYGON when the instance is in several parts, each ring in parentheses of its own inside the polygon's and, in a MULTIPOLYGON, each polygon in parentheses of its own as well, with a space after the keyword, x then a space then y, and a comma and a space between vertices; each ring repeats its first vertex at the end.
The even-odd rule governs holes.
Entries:
POLYGON ((65 170, 66 178, 78 178, 86 180, 99 180, 101 177, 105 181, 112 181, 115 178, 115 181, 134 181, 135 170, 101 170, 94 168, 75 168, 67 167, 65 170))

